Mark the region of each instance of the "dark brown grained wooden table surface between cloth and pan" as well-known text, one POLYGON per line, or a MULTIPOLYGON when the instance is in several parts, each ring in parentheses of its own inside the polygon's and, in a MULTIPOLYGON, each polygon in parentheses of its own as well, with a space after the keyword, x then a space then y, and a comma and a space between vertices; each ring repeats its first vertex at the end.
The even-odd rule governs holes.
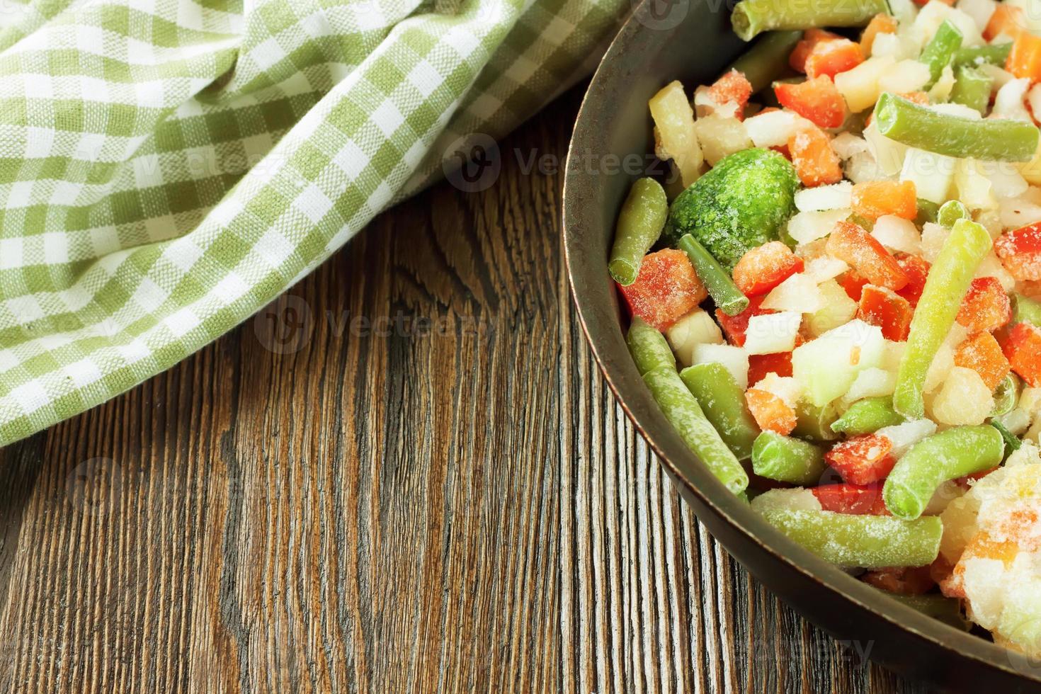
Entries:
POLYGON ((731 560, 606 389, 560 241, 580 97, 0 452, 0 691, 923 691, 731 560))

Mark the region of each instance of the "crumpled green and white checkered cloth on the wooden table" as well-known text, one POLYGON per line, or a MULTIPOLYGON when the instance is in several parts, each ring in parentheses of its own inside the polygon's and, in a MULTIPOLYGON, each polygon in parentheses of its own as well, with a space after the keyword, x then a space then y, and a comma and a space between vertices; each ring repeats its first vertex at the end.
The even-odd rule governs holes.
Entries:
POLYGON ((0 444, 259 310, 587 74, 628 8, 7 0, 0 444))

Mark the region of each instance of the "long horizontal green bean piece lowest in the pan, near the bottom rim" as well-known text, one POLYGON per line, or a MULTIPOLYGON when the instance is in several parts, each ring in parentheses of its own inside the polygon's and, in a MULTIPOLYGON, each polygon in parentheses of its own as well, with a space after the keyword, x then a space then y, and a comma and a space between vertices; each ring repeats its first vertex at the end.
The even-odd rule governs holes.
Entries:
POLYGON ((900 520, 833 511, 767 511, 763 518, 804 547, 843 568, 925 566, 940 552, 939 516, 900 520))

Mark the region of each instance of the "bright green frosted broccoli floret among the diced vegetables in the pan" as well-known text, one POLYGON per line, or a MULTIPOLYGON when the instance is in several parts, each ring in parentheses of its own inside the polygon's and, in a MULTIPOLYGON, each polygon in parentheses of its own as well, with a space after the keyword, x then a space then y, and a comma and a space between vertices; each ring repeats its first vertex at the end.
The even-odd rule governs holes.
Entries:
POLYGON ((795 211, 796 188, 794 166, 777 152, 735 152, 677 196, 663 238, 675 246, 689 233, 733 268, 752 249, 780 238, 795 211))

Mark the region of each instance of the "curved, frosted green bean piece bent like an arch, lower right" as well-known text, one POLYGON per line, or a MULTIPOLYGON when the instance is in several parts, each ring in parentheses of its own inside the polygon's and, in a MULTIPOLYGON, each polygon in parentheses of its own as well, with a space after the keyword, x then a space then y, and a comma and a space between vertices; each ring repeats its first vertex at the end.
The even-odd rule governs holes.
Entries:
POLYGON ((1005 440, 994 427, 953 427, 911 446, 882 487, 886 508, 897 518, 921 515, 941 484, 1001 464, 1005 440))

